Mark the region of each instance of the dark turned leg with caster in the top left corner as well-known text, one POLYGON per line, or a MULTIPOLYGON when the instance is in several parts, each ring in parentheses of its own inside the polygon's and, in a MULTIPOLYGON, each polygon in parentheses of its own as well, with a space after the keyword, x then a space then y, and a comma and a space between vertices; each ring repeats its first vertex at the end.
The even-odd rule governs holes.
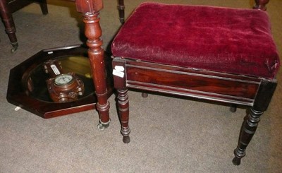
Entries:
POLYGON ((16 27, 15 27, 15 23, 13 22, 12 13, 8 10, 8 4, 6 0, 0 1, 0 15, 5 25, 6 33, 13 46, 13 49, 11 49, 11 52, 15 52, 16 49, 18 49, 18 40, 16 37, 16 27))

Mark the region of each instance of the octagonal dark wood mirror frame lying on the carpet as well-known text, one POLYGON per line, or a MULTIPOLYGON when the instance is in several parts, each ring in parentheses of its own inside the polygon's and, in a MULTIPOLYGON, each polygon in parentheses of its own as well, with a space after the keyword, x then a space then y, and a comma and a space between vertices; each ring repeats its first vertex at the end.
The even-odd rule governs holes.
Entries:
MULTIPOLYGON (((30 76, 32 76, 32 73, 36 68, 41 68, 44 61, 48 61, 49 59, 60 59, 65 56, 87 56, 87 48, 75 45, 55 49, 44 49, 26 61, 23 61, 23 63, 18 66, 12 68, 8 83, 8 102, 45 119, 95 109, 97 97, 94 94, 94 88, 92 88, 92 94, 81 97, 74 102, 66 103, 56 103, 51 101, 49 102, 48 100, 42 100, 36 95, 32 95, 32 93, 28 90, 27 85, 29 83, 30 76)), ((109 61, 107 65, 110 66, 111 62, 109 61)), ((107 73, 111 73, 111 71, 107 73)), ((42 76, 39 80, 42 80, 41 82, 44 83, 44 76, 42 76)), ((111 83, 111 78, 108 78, 107 97, 110 97, 112 93, 111 83)))

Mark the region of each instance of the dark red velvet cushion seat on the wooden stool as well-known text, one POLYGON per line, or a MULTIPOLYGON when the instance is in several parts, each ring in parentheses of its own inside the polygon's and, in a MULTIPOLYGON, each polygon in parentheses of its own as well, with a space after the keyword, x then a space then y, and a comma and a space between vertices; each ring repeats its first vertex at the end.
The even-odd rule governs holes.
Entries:
POLYGON ((274 78, 280 66, 264 11, 144 3, 111 45, 114 56, 274 78))

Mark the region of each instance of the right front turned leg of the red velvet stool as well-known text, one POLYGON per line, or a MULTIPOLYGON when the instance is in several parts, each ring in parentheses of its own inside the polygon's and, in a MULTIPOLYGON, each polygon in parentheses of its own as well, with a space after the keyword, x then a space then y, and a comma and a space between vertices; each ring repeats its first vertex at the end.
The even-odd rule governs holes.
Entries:
POLYGON ((238 147, 234 150, 235 157, 232 160, 234 165, 240 165, 242 157, 246 155, 247 145, 250 143, 252 136, 254 136, 255 131, 257 130, 259 117, 264 113, 256 111, 253 108, 250 109, 250 111, 250 114, 242 126, 238 147))

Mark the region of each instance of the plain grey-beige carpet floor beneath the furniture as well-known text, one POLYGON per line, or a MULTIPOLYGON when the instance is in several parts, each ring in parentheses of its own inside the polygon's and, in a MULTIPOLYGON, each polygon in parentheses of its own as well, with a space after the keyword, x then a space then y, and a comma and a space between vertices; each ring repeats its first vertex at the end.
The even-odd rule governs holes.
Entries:
MULTIPOLYGON (((126 16, 142 0, 125 0, 126 16)), ((161 2, 251 8, 252 1, 176 0, 161 2)), ((282 1, 268 6, 280 55, 282 1)), ((282 172, 282 81, 247 148, 240 166, 233 150, 246 110, 176 97, 130 91, 131 142, 122 142, 114 95, 111 124, 99 131, 94 110, 42 119, 6 100, 9 71, 42 49, 81 44, 81 14, 66 1, 48 1, 49 14, 38 4, 13 13, 19 48, 11 45, 0 24, 0 172, 282 172)), ((107 47, 120 27, 116 1, 104 0, 102 39, 107 47)))

